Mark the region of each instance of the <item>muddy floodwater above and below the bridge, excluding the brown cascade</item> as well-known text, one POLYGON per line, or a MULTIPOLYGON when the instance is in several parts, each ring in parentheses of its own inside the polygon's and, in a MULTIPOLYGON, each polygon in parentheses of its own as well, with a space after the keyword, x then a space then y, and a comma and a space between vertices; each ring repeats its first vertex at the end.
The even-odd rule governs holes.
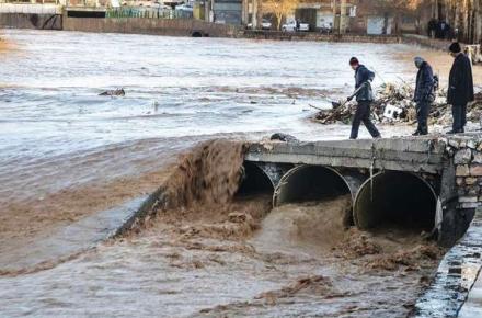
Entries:
MULTIPOLYGON (((413 80, 405 45, 1 32, 1 255, 150 193, 176 156, 213 138, 345 139, 307 120, 353 90, 413 80), (100 96, 124 88, 123 98, 100 96)), ((385 136, 408 127, 382 126, 385 136)), ((368 137, 362 128, 362 136, 368 137)), ((218 166, 219 167, 219 166, 218 166)), ((272 211, 271 195, 159 213, 147 225, 31 274, 2 273, 0 316, 404 317, 439 250, 420 232, 346 230, 347 197, 272 211), (213 207, 213 206, 210 206, 213 207)))

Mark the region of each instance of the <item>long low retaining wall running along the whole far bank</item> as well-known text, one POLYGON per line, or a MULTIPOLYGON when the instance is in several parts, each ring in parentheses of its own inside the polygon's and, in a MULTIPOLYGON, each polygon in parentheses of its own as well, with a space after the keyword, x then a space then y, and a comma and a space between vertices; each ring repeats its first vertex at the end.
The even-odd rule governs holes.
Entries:
MULTIPOLYGON (((54 8, 55 9, 55 8, 54 8)), ((416 44, 446 50, 446 41, 417 35, 321 34, 318 32, 277 32, 240 30, 234 25, 215 24, 191 19, 146 18, 67 18, 65 14, 0 12, 0 27, 66 30, 97 33, 131 33, 171 36, 241 37, 275 41, 313 41, 341 43, 416 44)))

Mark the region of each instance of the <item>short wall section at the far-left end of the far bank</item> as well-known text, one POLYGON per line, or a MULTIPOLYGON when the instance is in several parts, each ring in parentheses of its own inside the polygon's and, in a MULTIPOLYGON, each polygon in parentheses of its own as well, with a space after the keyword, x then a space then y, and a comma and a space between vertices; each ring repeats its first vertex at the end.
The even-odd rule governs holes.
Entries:
POLYGON ((61 30, 61 14, 0 13, 0 27, 61 30))

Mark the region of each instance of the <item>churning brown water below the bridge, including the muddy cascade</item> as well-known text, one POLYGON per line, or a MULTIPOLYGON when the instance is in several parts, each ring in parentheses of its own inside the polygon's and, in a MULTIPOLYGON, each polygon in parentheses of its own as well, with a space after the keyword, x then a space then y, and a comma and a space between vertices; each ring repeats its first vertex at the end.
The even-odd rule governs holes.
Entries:
POLYGON ((9 291, 0 292, 0 307, 8 316, 20 307, 41 316, 158 317, 411 310, 438 248, 403 234, 346 230, 349 196, 272 208, 268 194, 237 195, 244 150, 211 140, 181 156, 144 224, 49 271, 0 280, 0 291, 9 291))

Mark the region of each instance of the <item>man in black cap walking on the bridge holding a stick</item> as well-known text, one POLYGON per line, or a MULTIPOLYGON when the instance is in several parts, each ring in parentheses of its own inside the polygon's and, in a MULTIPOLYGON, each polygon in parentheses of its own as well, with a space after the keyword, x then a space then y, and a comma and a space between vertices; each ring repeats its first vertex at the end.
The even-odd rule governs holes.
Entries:
POLYGON ((364 65, 360 65, 356 57, 352 57, 349 66, 355 71, 355 93, 348 98, 348 101, 356 96, 358 103, 355 115, 353 116, 349 139, 358 138, 362 122, 365 124, 365 127, 367 127, 371 137, 380 138, 380 133, 370 121, 370 106, 375 100, 370 82, 374 80, 375 73, 368 70, 364 65))

